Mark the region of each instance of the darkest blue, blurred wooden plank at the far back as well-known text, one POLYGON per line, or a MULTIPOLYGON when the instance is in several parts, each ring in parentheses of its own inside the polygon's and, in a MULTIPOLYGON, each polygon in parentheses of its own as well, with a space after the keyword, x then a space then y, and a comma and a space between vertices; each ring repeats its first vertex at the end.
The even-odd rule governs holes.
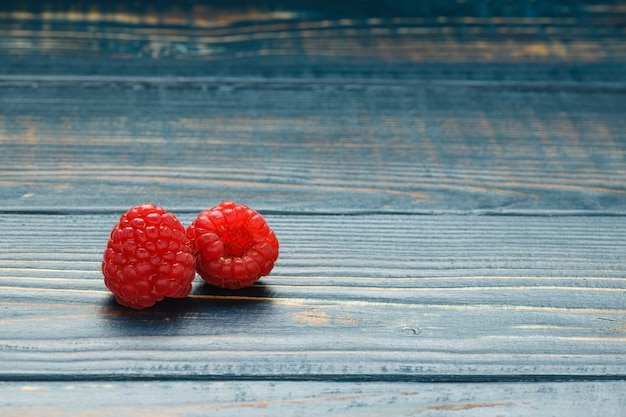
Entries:
POLYGON ((0 73, 626 80, 617 1, 9 2, 0 73))

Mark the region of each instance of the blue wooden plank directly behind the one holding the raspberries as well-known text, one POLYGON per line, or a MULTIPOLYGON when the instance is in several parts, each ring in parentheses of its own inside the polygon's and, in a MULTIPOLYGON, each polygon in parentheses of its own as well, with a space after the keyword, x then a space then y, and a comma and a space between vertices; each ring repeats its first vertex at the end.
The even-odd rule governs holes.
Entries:
POLYGON ((290 212, 626 210, 621 84, 35 77, 0 92, 5 212, 226 198, 290 212))

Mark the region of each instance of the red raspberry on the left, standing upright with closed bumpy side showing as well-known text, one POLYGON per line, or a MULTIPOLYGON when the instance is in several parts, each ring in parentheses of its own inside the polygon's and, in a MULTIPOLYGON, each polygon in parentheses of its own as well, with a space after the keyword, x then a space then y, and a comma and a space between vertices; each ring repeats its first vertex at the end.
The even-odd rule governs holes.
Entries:
POLYGON ((102 273, 104 284, 126 307, 142 309, 165 297, 186 297, 195 268, 185 227, 154 204, 132 207, 111 231, 102 273))

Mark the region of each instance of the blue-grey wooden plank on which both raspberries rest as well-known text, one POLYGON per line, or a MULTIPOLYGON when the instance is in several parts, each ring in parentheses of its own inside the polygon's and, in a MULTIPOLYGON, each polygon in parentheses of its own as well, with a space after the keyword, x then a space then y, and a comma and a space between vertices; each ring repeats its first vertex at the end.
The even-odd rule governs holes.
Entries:
POLYGON ((626 377, 622 218, 268 215, 258 285, 131 311, 115 217, 0 216, 1 380, 626 377))

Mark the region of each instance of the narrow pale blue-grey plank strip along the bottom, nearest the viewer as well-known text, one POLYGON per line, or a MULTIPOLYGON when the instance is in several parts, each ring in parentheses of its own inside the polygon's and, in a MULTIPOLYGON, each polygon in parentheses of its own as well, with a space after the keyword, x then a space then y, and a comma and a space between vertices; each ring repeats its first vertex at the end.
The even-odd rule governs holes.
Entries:
POLYGON ((0 383, 5 417, 623 416, 624 381, 407 384, 293 381, 0 383))

